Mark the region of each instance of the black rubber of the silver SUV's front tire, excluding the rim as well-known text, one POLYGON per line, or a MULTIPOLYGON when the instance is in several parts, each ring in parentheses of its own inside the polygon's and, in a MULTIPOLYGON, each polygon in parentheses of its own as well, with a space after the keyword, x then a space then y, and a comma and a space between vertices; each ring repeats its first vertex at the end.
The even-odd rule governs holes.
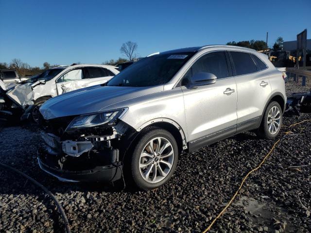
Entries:
MULTIPOLYGON (((173 135, 166 130, 163 130, 160 128, 152 128, 142 133, 136 142, 137 144, 135 145, 134 150, 132 150, 133 152, 131 154, 130 161, 128 161, 130 163, 130 174, 129 175, 132 178, 131 183, 133 183, 139 189, 142 189, 142 190, 152 190, 166 183, 172 177, 175 171, 176 165, 177 165, 177 160, 178 160, 179 152, 178 152, 176 140, 173 137, 173 135), (172 148, 173 148, 173 164, 172 164, 171 170, 169 171, 169 173, 163 180, 157 183, 149 183, 140 174, 140 168, 139 168, 140 154, 142 153, 143 150, 145 150, 146 144, 155 137, 163 137, 171 143, 172 148)), ((160 163, 156 163, 156 164, 160 164, 160 163)), ((155 168, 155 169, 158 169, 158 168, 155 168)))

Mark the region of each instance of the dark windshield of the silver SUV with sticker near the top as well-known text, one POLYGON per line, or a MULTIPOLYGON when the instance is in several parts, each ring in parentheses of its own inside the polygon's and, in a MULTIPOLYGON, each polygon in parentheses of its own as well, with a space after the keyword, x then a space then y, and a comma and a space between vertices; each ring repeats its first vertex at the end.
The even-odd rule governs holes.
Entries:
POLYGON ((146 57, 112 78, 108 86, 155 86, 169 82, 194 52, 166 53, 146 57))

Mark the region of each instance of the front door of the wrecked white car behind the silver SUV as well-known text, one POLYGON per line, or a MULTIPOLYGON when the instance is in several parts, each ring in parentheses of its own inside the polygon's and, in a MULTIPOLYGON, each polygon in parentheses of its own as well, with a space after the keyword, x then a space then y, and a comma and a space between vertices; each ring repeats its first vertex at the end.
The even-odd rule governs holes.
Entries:
POLYGON ((56 81, 58 95, 73 91, 84 86, 84 70, 76 68, 62 75, 56 81))

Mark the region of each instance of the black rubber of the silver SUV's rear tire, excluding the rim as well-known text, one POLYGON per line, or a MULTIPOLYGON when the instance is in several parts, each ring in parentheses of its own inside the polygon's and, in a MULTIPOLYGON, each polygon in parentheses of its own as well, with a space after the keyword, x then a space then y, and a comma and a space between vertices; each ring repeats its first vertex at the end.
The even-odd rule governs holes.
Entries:
POLYGON ((265 139, 274 139, 274 138, 276 138, 276 136, 280 133, 280 129, 281 129, 281 126, 282 126, 282 117, 283 117, 282 108, 279 105, 279 103, 276 102, 276 101, 270 102, 268 104, 268 106, 267 106, 267 108, 266 108, 266 110, 264 112, 264 115, 262 117, 262 120, 261 120, 261 124, 260 124, 259 130, 258 130, 259 136, 262 137, 262 138, 265 138, 265 139), (279 112, 280 112, 280 122, 279 122, 279 127, 278 127, 276 133, 271 133, 269 131, 269 128, 268 128, 268 115, 269 115, 270 110, 273 107, 276 107, 279 110, 279 112))

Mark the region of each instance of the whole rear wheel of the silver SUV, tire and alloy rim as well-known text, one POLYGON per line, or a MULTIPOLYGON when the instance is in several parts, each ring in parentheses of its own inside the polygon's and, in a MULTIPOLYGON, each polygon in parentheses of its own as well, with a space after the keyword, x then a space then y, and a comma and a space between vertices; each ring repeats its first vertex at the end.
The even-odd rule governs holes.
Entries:
POLYGON ((268 104, 259 127, 259 136, 266 139, 274 139, 279 134, 282 126, 282 108, 278 102, 268 104))

